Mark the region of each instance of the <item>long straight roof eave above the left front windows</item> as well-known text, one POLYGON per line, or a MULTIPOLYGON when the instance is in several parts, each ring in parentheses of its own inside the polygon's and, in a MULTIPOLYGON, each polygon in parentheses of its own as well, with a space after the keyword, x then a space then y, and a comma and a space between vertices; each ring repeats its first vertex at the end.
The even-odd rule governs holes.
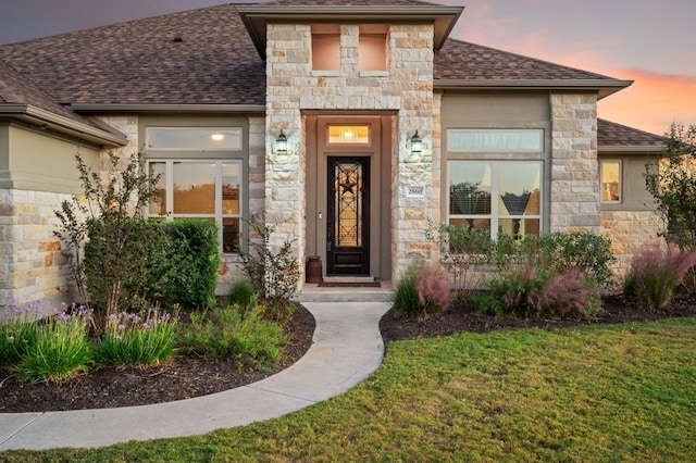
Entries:
POLYGON ((76 113, 265 113, 263 104, 75 103, 76 113))

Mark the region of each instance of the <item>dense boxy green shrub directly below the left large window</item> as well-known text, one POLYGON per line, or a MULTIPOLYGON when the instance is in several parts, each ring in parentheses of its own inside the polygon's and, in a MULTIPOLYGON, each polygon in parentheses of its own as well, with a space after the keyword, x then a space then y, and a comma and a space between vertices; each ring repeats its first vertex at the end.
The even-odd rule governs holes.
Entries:
POLYGON ((166 305, 206 310, 215 304, 220 270, 217 226, 203 218, 160 223, 167 237, 154 286, 166 305))

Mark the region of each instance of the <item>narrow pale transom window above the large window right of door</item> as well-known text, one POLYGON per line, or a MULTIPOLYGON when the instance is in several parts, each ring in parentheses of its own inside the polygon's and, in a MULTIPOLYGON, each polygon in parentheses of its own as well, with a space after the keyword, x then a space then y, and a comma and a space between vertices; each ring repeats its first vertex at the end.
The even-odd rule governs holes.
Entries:
POLYGON ((449 151, 540 152, 542 129, 451 129, 447 132, 449 151))

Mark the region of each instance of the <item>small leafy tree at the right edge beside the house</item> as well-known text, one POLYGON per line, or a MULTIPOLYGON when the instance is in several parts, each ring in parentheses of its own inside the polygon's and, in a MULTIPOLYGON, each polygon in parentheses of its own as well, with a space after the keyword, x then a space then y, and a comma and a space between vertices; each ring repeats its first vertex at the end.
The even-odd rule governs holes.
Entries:
POLYGON ((696 125, 672 124, 662 159, 646 164, 645 180, 667 229, 668 242, 696 250, 696 125))

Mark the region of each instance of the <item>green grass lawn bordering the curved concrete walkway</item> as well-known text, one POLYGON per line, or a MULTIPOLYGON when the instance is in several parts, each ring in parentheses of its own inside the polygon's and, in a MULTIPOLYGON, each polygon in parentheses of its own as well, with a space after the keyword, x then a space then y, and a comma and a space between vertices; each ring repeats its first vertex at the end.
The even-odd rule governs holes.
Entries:
POLYGON ((694 461, 694 352, 696 318, 399 341, 363 384, 285 417, 0 460, 694 461))

